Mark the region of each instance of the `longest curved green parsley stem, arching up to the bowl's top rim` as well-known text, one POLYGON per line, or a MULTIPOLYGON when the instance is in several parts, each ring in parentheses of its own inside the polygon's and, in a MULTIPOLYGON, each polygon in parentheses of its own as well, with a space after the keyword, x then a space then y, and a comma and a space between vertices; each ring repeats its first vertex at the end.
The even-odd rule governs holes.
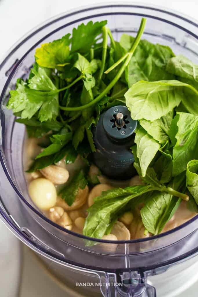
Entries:
POLYGON ((137 32, 137 36, 134 40, 134 43, 132 45, 131 50, 129 51, 126 60, 123 62, 121 68, 119 69, 118 73, 116 74, 116 76, 113 78, 113 80, 110 82, 110 84, 102 91, 102 93, 100 93, 94 100, 92 100, 91 102, 82 105, 82 106, 78 106, 78 107, 63 107, 59 105, 59 108, 62 110, 82 110, 82 109, 86 109, 94 104, 96 104, 98 101, 100 101, 109 91, 110 89, 113 88, 113 86, 117 83, 117 81, 121 78, 125 68, 127 67, 127 65, 129 64, 131 57, 134 53, 134 50, 137 48, 138 43, 140 42, 141 36, 144 32, 144 28, 146 25, 146 19, 142 18, 141 24, 140 24, 140 28, 137 32))

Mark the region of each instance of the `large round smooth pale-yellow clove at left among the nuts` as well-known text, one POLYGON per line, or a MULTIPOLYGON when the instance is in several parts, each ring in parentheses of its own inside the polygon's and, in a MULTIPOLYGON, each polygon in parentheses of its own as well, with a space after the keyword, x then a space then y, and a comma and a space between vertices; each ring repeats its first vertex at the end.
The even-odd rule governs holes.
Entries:
POLYGON ((36 206, 48 210, 56 204, 56 188, 46 178, 37 178, 31 181, 28 187, 29 195, 36 206))

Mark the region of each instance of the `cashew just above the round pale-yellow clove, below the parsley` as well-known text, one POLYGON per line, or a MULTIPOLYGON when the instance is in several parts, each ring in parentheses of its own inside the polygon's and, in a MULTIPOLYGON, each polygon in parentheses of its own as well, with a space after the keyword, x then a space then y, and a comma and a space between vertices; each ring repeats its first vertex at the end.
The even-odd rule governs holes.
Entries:
POLYGON ((69 178, 69 171, 56 165, 49 165, 40 172, 53 184, 65 184, 69 178))

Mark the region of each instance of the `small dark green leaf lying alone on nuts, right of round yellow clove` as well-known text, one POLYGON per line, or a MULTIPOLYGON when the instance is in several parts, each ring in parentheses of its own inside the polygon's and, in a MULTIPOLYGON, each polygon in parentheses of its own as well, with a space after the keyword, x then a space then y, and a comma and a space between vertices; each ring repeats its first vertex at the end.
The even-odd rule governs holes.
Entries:
POLYGON ((66 185, 59 195, 61 195, 61 198, 69 205, 71 206, 75 200, 75 197, 78 195, 79 189, 85 189, 87 186, 87 180, 85 178, 85 173, 83 170, 80 170, 75 177, 72 179, 72 181, 69 183, 69 185, 66 185))

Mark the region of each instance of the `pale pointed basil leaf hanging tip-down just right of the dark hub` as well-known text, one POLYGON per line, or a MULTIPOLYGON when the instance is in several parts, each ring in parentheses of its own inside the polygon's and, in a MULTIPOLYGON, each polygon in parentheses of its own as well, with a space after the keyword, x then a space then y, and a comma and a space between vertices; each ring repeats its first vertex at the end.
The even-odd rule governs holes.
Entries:
POLYGON ((149 135, 141 126, 136 129, 135 143, 137 144, 137 158, 140 162, 142 176, 160 148, 160 144, 149 135))

